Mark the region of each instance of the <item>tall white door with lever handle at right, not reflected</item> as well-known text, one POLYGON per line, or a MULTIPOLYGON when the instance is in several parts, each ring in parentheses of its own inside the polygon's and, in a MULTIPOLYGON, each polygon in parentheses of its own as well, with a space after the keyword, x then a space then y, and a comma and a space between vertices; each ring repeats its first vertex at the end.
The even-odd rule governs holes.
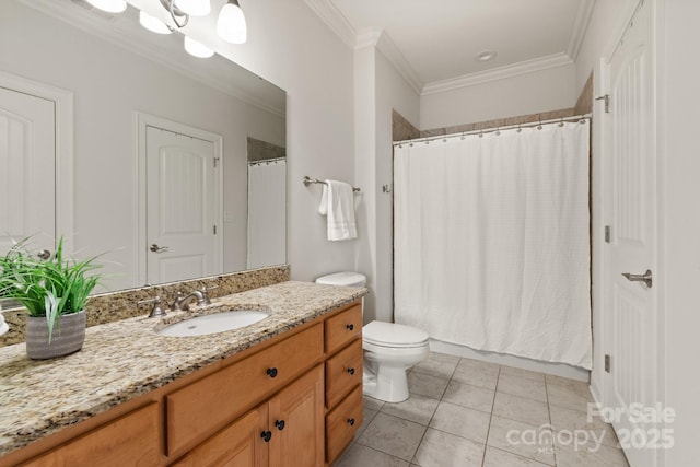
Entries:
POLYGON ((633 467, 655 466, 665 440, 640 409, 657 404, 656 151, 651 2, 606 65, 604 406, 633 467), (646 271, 651 282, 644 282, 646 271), (632 276, 625 276, 632 275, 632 276))

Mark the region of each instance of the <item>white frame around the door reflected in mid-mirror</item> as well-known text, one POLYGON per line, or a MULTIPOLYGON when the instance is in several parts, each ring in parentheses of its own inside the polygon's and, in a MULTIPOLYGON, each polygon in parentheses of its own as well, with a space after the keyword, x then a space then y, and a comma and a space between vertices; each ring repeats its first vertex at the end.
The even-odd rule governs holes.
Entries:
POLYGON ((219 271, 223 271, 223 137, 211 131, 190 127, 185 124, 168 120, 167 118, 158 117, 155 115, 145 114, 143 112, 135 113, 136 135, 137 135, 137 180, 138 196, 137 206, 137 229, 136 229, 136 271, 135 277, 139 284, 148 283, 148 219, 147 219, 147 140, 145 133, 148 127, 158 127, 174 133, 195 137, 205 141, 209 141, 214 145, 214 157, 218 157, 218 172, 214 173, 214 222, 220 226, 217 235, 217 250, 219 257, 215 258, 219 271))

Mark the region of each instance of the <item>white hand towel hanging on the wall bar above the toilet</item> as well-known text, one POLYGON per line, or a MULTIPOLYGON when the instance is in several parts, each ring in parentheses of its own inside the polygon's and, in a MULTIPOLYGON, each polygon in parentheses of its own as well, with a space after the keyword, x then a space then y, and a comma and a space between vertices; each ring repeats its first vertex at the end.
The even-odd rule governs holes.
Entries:
POLYGON ((326 180, 320 196, 318 212, 328 217, 329 241, 335 242, 358 237, 352 185, 345 182, 326 180))

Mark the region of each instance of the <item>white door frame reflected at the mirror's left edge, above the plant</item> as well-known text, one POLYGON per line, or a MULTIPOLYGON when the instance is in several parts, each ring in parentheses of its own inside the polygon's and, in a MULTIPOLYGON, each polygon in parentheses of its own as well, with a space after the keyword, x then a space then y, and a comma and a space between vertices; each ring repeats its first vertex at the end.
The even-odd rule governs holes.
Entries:
MULTIPOLYGON (((0 87, 52 101, 56 131, 56 183, 54 194, 57 236, 66 235, 63 248, 73 250, 73 93, 39 81, 0 71, 0 87)), ((55 238, 56 242, 56 238, 55 238)))

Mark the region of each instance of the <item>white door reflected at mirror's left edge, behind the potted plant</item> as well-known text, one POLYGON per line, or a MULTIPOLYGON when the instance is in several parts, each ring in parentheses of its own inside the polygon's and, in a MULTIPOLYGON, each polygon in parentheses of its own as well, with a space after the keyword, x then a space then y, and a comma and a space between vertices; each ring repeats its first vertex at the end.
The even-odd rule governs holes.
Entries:
POLYGON ((32 249, 56 237, 55 103, 0 87, 0 254, 32 236, 32 249))

